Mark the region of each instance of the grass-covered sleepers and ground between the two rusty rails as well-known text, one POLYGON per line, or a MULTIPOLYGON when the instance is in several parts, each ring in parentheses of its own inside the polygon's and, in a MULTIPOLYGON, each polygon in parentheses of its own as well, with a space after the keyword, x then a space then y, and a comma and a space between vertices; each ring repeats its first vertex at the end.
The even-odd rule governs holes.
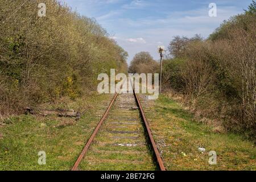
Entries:
MULTIPOLYGON (((131 95, 130 97, 133 96, 131 95)), ((90 150, 82 160, 79 167, 80 170, 151 171, 156 169, 146 144, 143 127, 139 123, 139 111, 119 108, 120 105, 123 105, 121 101, 128 98, 128 95, 119 95, 117 97, 110 110, 109 117, 104 121, 90 146, 90 150), (126 117, 137 119, 137 121, 130 122, 135 122, 135 125, 127 125, 129 121, 121 119, 126 117), (117 125, 112 122, 126 123, 117 125), (134 144, 134 146, 129 146, 129 144, 134 144)), ((135 102, 130 104, 135 104, 135 102)), ((131 105, 127 104, 126 106, 130 107, 131 105)))

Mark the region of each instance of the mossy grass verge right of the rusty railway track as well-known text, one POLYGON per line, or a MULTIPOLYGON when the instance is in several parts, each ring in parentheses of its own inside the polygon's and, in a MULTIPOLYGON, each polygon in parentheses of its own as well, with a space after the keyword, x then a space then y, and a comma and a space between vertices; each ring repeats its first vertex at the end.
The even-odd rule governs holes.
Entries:
POLYGON ((193 114, 166 96, 143 106, 168 170, 256 169, 253 142, 237 134, 213 133, 209 126, 193 119, 193 114), (202 154, 198 147, 207 151, 202 154), (216 165, 209 165, 209 151, 217 152, 216 165))

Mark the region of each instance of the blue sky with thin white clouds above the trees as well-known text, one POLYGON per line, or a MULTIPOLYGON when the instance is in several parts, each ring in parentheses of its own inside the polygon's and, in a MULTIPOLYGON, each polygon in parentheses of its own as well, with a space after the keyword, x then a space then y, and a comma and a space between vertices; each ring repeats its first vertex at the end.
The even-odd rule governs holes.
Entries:
POLYGON ((79 14, 95 18, 129 53, 148 51, 158 60, 157 46, 168 46, 175 35, 204 38, 223 20, 240 14, 251 0, 63 0, 79 14), (216 3, 217 17, 210 17, 216 3))

